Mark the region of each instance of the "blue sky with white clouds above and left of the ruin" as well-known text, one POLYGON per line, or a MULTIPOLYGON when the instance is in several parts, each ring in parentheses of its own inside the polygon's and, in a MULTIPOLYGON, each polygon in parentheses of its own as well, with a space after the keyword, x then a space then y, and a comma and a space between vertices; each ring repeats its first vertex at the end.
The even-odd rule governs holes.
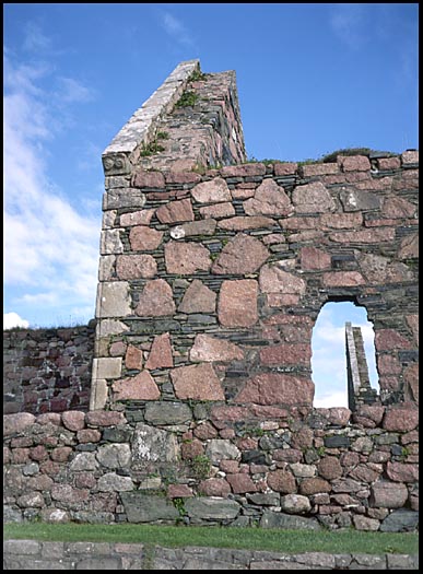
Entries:
POLYGON ((94 316, 102 152, 183 60, 236 70, 249 157, 419 147, 418 3, 5 3, 3 48, 5 326, 94 316))

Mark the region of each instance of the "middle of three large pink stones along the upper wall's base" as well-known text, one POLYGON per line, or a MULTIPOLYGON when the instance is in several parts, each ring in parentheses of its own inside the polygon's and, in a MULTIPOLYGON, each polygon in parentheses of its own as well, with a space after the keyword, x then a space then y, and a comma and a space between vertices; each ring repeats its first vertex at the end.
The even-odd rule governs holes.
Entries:
POLYGON ((225 399, 221 383, 210 363, 173 368, 171 377, 178 399, 225 399))

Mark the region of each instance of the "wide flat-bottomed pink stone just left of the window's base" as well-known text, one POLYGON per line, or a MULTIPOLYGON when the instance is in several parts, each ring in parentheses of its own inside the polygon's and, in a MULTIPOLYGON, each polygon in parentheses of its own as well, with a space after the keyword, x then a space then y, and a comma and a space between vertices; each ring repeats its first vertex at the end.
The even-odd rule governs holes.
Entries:
POLYGON ((261 373, 247 380, 235 397, 236 402, 258 405, 309 405, 313 403, 314 384, 283 373, 261 373))

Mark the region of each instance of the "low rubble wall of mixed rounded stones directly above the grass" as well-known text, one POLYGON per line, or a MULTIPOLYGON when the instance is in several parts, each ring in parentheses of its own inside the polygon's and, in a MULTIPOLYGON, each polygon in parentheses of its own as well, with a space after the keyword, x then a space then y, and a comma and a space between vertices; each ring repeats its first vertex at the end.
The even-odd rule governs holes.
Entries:
POLYGON ((4 415, 5 522, 416 528, 415 405, 256 425, 207 409, 4 415))

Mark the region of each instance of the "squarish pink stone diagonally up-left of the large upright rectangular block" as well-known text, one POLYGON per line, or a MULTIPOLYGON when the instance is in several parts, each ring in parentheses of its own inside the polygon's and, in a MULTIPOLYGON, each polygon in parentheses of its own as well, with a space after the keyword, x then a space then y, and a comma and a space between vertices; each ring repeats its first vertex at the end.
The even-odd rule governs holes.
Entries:
POLYGON ((165 245, 165 263, 168 273, 192 274, 208 271, 211 266, 210 251, 197 243, 171 241, 165 245))

